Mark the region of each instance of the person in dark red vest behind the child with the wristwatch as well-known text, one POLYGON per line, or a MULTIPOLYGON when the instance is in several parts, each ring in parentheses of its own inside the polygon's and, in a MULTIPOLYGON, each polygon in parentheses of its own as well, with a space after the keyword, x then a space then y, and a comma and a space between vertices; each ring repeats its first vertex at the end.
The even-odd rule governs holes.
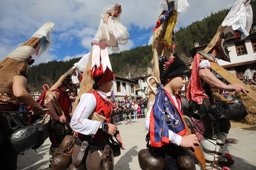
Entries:
POLYGON ((51 147, 49 149, 49 167, 51 166, 52 158, 55 156, 55 152, 58 151, 60 144, 64 137, 67 134, 70 134, 72 130, 65 129, 64 124, 70 122, 70 113, 72 112, 72 103, 70 101, 69 91, 76 91, 76 84, 73 84, 72 75, 76 70, 76 66, 70 68, 65 74, 63 74, 58 81, 52 85, 50 91, 54 95, 58 104, 61 107, 61 110, 64 113, 63 115, 58 115, 54 105, 51 102, 50 97, 47 97, 47 108, 49 108, 49 114, 52 117, 52 133, 49 136, 50 141, 52 142, 51 147))

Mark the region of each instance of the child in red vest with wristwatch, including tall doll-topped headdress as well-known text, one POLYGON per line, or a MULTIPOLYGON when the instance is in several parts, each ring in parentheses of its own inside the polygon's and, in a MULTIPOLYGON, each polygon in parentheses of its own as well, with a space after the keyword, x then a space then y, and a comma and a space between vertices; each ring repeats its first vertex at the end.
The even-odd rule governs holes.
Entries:
POLYGON ((120 148, 124 149, 114 122, 113 105, 107 97, 115 78, 107 47, 119 51, 118 45, 124 45, 129 37, 127 28, 119 20, 121 12, 121 5, 117 3, 104 8, 99 29, 92 41, 93 49, 83 71, 80 93, 70 122, 78 136, 69 167, 72 170, 113 170, 113 156, 119 156, 120 148))

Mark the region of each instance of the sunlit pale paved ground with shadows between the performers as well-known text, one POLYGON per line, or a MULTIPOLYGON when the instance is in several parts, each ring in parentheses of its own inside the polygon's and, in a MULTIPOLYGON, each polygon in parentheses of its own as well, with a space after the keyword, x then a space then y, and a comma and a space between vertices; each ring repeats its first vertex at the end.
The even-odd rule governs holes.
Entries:
MULTIPOLYGON (((117 125, 126 149, 114 159, 114 170, 140 170, 137 155, 146 145, 145 119, 135 119, 133 125, 124 125, 124 122, 117 125)), ((231 170, 256 170, 256 127, 232 127, 228 137, 239 140, 236 144, 225 144, 225 150, 235 160, 231 170)), ((17 170, 49 170, 49 146, 47 139, 37 152, 29 150, 25 155, 18 156, 17 170)))

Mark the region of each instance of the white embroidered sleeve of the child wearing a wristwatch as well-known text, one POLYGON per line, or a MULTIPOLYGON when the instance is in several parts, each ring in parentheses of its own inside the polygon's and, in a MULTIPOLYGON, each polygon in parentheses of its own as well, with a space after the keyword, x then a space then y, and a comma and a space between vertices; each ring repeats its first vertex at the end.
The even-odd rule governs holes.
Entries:
POLYGON ((100 121, 89 120, 88 117, 96 107, 96 98, 93 94, 85 93, 73 113, 70 127, 83 135, 94 136, 102 125, 100 121))

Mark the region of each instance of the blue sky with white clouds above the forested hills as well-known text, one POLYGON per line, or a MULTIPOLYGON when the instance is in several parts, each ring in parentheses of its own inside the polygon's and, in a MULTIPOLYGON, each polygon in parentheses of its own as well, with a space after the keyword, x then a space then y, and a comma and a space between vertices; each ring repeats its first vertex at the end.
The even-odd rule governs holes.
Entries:
MULTIPOLYGON (((129 50, 151 44, 161 12, 160 0, 0 0, 0 59, 5 58, 22 42, 26 42, 46 22, 55 23, 53 45, 35 64, 52 59, 82 57, 90 52, 90 42, 99 27, 99 16, 105 6, 122 5, 120 20, 130 33, 129 50)), ((190 8, 178 17, 177 29, 201 20, 211 12, 230 8, 236 0, 188 0, 190 8)))

